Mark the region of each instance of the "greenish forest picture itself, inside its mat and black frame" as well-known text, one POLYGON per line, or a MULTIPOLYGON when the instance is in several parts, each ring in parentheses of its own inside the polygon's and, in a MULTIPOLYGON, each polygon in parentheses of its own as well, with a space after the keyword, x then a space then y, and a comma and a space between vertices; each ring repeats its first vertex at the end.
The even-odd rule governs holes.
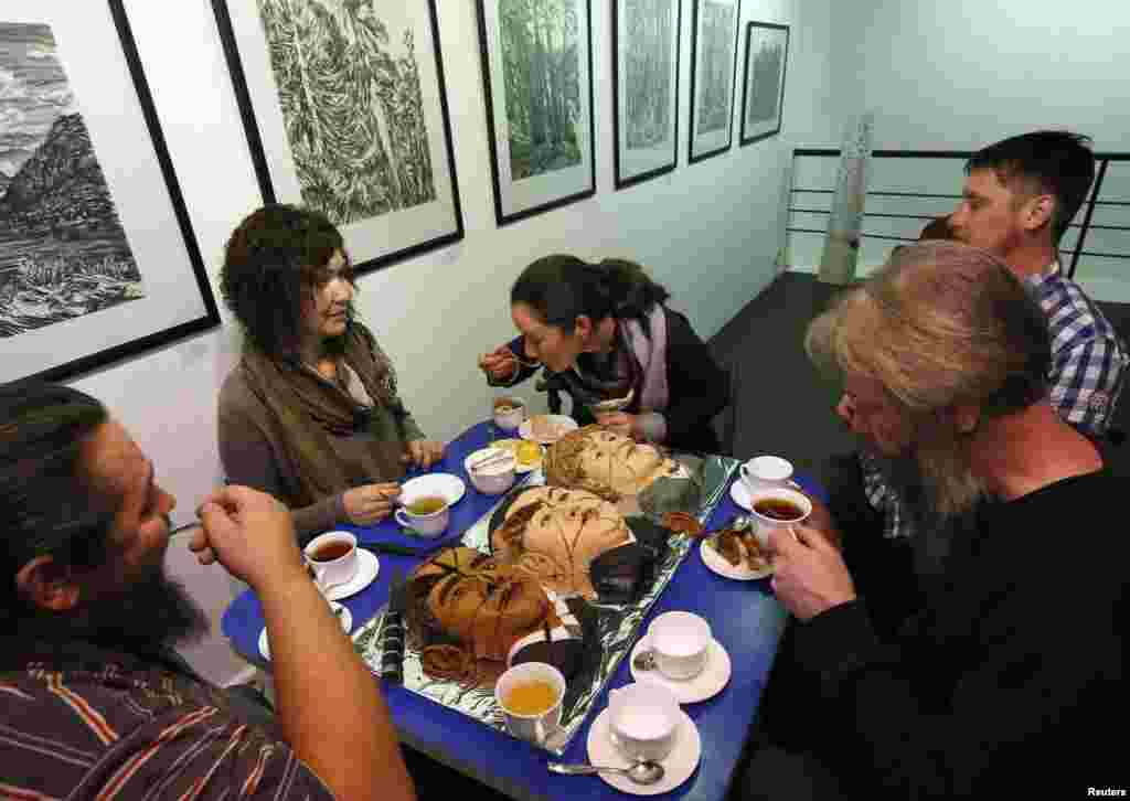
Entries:
POLYGON ((501 0, 514 181, 581 163, 581 20, 575 0, 501 0))

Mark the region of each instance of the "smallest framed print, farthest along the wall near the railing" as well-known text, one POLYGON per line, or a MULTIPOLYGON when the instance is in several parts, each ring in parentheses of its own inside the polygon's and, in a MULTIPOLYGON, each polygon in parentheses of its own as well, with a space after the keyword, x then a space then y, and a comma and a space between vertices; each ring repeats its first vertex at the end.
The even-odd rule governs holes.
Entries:
POLYGON ((741 145, 781 132, 784 77, 789 63, 789 26, 746 25, 746 70, 741 99, 741 145))

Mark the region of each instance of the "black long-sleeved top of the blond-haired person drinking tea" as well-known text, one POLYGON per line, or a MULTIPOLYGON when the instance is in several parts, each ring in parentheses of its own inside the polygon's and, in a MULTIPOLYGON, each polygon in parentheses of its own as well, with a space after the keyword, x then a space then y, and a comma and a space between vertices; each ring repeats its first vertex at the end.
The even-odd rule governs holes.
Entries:
POLYGON ((904 799, 1125 787, 1125 490, 1102 471, 986 504, 888 642, 860 601, 801 626, 822 756, 904 799))

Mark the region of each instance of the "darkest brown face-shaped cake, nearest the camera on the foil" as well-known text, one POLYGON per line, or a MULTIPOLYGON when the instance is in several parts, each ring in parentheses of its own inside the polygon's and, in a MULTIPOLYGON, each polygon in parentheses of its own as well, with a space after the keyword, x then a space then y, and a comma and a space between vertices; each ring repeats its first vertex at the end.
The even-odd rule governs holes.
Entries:
POLYGON ((449 548, 408 580, 410 635, 424 643, 450 639, 476 659, 503 662, 531 632, 560 618, 538 582, 473 548, 449 548))

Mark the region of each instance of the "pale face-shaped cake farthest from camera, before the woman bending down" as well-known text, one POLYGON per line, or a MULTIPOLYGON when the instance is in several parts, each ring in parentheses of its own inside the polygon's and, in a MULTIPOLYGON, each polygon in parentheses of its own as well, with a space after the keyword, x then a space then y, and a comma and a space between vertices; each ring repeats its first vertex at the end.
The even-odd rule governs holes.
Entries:
POLYGON ((638 495, 662 476, 679 473, 679 464, 654 445, 600 426, 570 432, 547 449, 546 484, 584 489, 611 502, 638 495))

